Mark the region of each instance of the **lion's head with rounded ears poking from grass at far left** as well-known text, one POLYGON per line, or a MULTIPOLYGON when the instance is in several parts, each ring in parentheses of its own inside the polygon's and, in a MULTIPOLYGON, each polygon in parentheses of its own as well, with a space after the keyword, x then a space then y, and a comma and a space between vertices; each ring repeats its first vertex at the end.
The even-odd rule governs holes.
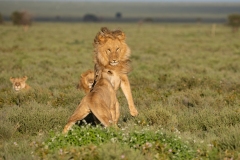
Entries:
POLYGON ((10 81, 12 82, 12 87, 13 90, 18 92, 18 91, 27 91, 31 87, 26 83, 26 80, 28 79, 27 76, 24 76, 22 78, 13 78, 10 77, 10 81))

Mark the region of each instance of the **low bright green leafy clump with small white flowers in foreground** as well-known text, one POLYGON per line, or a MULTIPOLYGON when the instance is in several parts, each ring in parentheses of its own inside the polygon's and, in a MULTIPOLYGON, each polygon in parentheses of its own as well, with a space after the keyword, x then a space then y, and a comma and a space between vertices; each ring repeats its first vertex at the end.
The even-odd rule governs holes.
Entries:
POLYGON ((47 151, 53 151, 71 146, 95 145, 98 147, 107 143, 128 146, 140 151, 143 155, 154 153, 154 155, 164 155, 171 159, 191 159, 196 154, 180 137, 166 134, 162 130, 153 131, 147 127, 129 131, 128 128, 74 126, 66 135, 51 133, 43 147, 47 151))

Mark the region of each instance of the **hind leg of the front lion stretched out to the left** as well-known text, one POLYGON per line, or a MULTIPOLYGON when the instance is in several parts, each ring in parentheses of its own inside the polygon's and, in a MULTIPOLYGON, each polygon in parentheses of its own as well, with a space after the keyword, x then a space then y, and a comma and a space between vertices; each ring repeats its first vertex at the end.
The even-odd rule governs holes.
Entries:
MULTIPOLYGON (((84 102, 84 101, 83 101, 84 102)), ((67 133, 68 130, 79 120, 84 119, 89 113, 90 109, 87 103, 82 103, 78 106, 78 108, 74 111, 73 115, 69 118, 68 123, 65 125, 63 129, 63 133, 67 133)))

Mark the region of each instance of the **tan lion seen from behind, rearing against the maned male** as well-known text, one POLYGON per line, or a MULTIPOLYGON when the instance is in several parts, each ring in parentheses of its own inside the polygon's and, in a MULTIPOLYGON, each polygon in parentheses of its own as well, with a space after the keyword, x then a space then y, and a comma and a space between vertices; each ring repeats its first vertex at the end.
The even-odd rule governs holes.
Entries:
POLYGON ((119 103, 116 92, 111 82, 120 81, 115 71, 109 69, 102 70, 98 75, 98 81, 91 92, 82 99, 73 115, 69 118, 63 129, 63 133, 79 120, 84 119, 91 112, 105 126, 116 125, 120 116, 119 103))

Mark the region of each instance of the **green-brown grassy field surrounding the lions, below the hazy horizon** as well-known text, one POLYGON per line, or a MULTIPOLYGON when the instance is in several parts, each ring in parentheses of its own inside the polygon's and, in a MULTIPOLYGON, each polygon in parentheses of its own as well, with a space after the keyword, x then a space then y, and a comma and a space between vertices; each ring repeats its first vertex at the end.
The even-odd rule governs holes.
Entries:
POLYGON ((0 160, 240 159, 240 33, 229 27, 5 24, 0 35, 0 160), (64 136, 102 26, 127 35, 140 114, 131 117, 119 90, 119 129, 75 125, 64 136), (24 75, 32 90, 16 94, 9 78, 24 75))

